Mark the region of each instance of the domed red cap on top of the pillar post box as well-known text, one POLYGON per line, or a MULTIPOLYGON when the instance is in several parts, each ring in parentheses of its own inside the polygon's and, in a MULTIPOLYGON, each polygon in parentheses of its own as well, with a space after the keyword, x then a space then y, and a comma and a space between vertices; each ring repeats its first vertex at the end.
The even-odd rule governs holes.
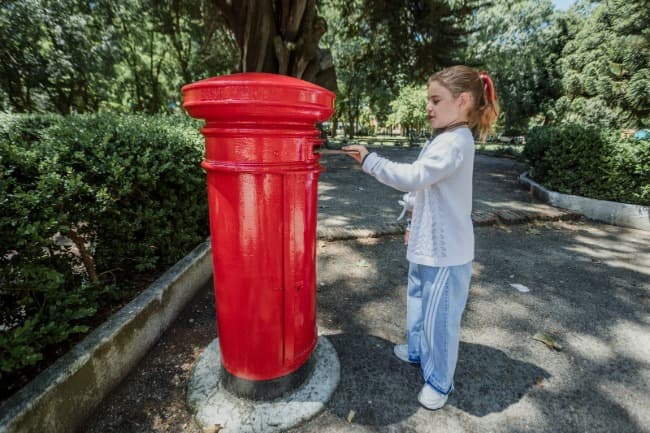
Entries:
POLYGON ((318 122, 334 112, 334 93, 279 74, 245 72, 207 78, 184 86, 182 92, 188 113, 208 121, 289 116, 295 121, 318 122))

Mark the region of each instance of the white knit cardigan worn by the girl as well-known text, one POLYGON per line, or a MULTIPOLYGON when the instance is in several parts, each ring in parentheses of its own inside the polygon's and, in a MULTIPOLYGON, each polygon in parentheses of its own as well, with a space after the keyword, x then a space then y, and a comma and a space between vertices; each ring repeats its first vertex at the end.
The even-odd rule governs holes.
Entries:
POLYGON ((474 259, 474 137, 468 128, 438 135, 411 164, 373 152, 362 168, 381 183, 407 192, 405 210, 413 213, 406 251, 410 262, 456 266, 474 259))

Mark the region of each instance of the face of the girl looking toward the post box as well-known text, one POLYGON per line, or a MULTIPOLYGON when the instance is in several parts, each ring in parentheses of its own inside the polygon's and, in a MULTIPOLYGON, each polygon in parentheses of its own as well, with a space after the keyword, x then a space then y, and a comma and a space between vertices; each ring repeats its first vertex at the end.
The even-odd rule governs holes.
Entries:
POLYGON ((468 93, 454 98, 446 87, 437 81, 429 84, 427 114, 433 129, 443 129, 458 122, 467 122, 468 93))

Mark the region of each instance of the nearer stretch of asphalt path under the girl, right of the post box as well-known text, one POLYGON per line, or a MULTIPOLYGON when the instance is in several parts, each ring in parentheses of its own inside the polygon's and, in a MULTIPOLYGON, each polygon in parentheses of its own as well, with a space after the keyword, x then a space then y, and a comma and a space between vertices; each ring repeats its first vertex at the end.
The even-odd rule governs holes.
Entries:
MULTIPOLYGON (((330 410, 342 422, 350 410, 353 424, 369 426, 413 426, 424 416, 419 369, 392 354, 404 339, 404 248, 399 236, 321 242, 319 322, 341 358, 330 410)), ((650 431, 642 427, 650 425, 649 265, 650 234, 640 231, 585 223, 478 229, 447 404, 461 411, 454 417, 470 431, 650 431), (563 350, 533 339, 538 332, 552 333, 563 350)), ((454 412, 435 416, 442 413, 454 412)))

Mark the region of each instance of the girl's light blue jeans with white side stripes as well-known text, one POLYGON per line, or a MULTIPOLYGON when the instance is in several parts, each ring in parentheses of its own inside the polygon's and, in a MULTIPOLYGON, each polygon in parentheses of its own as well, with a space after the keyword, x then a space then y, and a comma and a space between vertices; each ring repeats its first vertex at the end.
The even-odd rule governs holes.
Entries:
POLYGON ((431 267, 409 263, 406 337, 409 358, 441 394, 454 389, 460 320, 467 304, 472 262, 431 267))

